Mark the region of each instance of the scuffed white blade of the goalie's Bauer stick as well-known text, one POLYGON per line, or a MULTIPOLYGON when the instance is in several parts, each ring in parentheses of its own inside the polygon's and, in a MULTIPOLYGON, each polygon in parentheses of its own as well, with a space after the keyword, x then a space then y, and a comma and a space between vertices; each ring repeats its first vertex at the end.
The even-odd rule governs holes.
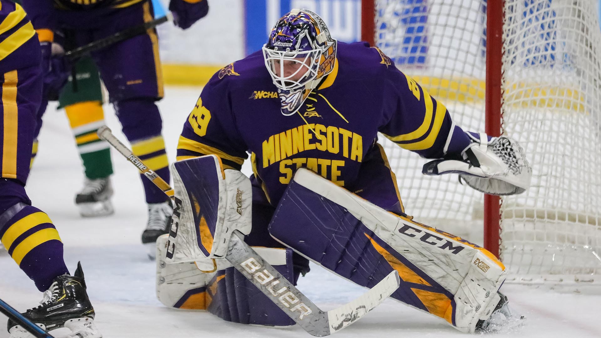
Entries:
POLYGON ((379 306, 392 292, 398 289, 398 272, 392 271, 361 297, 337 309, 328 311, 330 334, 342 330, 361 319, 376 306, 379 306))

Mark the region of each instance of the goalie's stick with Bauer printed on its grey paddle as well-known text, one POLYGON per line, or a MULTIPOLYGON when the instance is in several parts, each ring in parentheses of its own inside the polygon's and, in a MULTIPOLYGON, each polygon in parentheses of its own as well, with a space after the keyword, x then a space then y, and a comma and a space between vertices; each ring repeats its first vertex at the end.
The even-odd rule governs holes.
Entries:
MULTIPOLYGON (((130 162, 136 165, 140 170, 146 168, 145 176, 152 180, 160 189, 170 193, 169 197, 174 198, 173 189, 169 187, 159 176, 148 170, 142 164, 139 158, 132 154, 116 137, 111 133, 111 129, 102 126, 98 129, 100 139, 107 141, 115 147, 121 155, 125 156, 130 162), (147 173, 151 172, 156 177, 151 178, 147 173), (165 189, 168 187, 169 189, 165 189)), ((228 250, 225 254, 234 268, 240 271, 252 284, 258 287, 269 299, 282 309, 296 324, 303 330, 313 336, 323 337, 340 331, 343 328, 353 324, 359 318, 364 316, 374 307, 382 303, 392 292, 394 292, 400 283, 398 272, 392 271, 379 283, 365 292, 361 297, 351 301, 334 310, 323 311, 319 309, 309 298, 298 290, 290 281, 284 278, 279 272, 267 263, 263 257, 259 256, 248 244, 243 241, 244 235, 237 230, 231 235, 228 243, 228 250)))

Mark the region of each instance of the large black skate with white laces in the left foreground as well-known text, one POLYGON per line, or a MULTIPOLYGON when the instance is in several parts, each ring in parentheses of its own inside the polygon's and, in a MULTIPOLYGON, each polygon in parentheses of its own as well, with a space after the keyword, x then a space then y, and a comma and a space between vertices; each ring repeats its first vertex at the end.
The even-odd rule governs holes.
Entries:
MULTIPOLYGON (((81 263, 73 276, 62 275, 44 292, 41 305, 27 310, 23 316, 29 318, 50 334, 52 331, 71 330, 67 337, 102 338, 94 324, 94 308, 88 299, 81 263)), ((8 319, 9 338, 33 338, 23 327, 8 319)))

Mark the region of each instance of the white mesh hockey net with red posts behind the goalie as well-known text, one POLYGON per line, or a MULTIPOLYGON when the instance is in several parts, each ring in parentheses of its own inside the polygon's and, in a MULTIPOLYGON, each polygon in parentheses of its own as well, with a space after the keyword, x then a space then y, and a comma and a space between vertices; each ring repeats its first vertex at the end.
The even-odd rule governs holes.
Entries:
POLYGON ((601 32, 596 1, 489 5, 498 8, 487 8, 486 0, 362 1, 364 39, 374 37, 371 42, 444 102, 464 130, 484 131, 486 117, 489 134, 519 141, 533 170, 528 191, 492 199, 485 213, 483 194, 460 185, 456 175, 423 176, 425 159, 380 137, 406 212, 484 242, 508 267, 508 281, 569 289, 598 285, 601 32), (487 9, 494 17, 487 19, 487 9), (495 29, 498 41, 490 34, 487 39, 487 31, 495 29))

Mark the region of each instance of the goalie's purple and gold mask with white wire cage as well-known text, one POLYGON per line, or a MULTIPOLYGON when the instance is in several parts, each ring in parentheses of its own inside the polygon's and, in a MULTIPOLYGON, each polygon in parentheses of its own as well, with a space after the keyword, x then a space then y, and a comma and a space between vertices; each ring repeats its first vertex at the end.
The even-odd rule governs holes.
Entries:
POLYGON ((332 72, 336 46, 322 18, 310 10, 291 10, 273 26, 263 57, 278 87, 282 114, 298 111, 311 90, 332 72))

